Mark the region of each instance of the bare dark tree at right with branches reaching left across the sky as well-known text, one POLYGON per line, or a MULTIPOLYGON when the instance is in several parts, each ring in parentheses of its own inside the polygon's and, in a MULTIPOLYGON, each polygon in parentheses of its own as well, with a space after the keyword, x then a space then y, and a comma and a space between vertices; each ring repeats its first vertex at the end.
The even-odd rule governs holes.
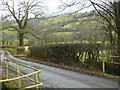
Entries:
MULTIPOLYGON (((71 0, 70 3, 65 3, 62 1, 62 8, 64 7, 63 10, 65 10, 69 7, 80 5, 81 2, 81 0, 71 0)), ((120 1, 99 0, 96 2, 94 0, 85 0, 82 3, 84 3, 82 4, 84 7, 82 8, 82 5, 80 5, 80 8, 74 12, 78 12, 86 7, 88 8, 89 6, 93 6, 96 11, 94 13, 97 14, 100 19, 102 19, 101 25, 104 29, 104 32, 110 37, 112 44, 117 44, 118 55, 120 55, 120 1)))

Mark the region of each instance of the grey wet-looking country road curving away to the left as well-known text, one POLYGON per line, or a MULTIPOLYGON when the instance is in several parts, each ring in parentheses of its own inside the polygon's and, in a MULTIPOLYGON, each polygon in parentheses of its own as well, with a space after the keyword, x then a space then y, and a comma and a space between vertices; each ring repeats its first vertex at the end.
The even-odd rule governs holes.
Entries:
MULTIPOLYGON (((2 51, 0 51, 2 52, 2 51)), ((118 82, 86 75, 75 71, 65 70, 57 67, 21 60, 12 56, 8 51, 2 52, 1 60, 7 58, 21 63, 37 67, 42 70, 40 80, 47 87, 52 88, 118 88, 118 82)), ((15 66, 12 65, 11 66, 15 66)), ((32 70, 21 67, 22 72, 30 73, 32 70)))

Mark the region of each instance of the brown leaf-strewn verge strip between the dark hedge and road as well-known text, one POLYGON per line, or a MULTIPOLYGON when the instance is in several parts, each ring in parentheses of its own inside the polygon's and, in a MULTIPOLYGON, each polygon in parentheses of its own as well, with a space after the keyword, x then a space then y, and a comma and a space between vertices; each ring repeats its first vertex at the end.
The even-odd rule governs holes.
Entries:
POLYGON ((78 66, 65 65, 64 63, 56 64, 54 62, 46 62, 45 60, 37 60, 35 58, 27 58, 27 57, 23 57, 22 59, 32 61, 32 62, 37 62, 37 63, 40 63, 40 64, 53 66, 53 67, 63 68, 63 69, 66 69, 66 70, 72 70, 72 71, 80 72, 80 73, 83 73, 83 74, 88 74, 88 75, 93 75, 93 76, 98 76, 98 77, 104 77, 104 78, 113 79, 113 80, 120 79, 120 76, 117 76, 117 75, 106 74, 106 73, 103 73, 102 71, 85 69, 85 68, 81 68, 81 67, 78 67, 78 66))

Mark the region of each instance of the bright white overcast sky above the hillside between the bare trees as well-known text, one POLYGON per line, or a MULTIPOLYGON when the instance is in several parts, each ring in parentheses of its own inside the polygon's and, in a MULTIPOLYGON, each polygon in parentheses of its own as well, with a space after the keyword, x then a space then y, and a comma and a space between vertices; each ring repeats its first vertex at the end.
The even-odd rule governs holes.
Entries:
MULTIPOLYGON (((15 1, 16 1, 16 3, 17 3, 19 0, 15 0, 15 1)), ((26 1, 29 1, 29 0, 26 0, 26 1)), ((72 1, 72 0, 45 0, 45 1, 46 1, 46 4, 47 4, 47 7, 48 7, 48 10, 45 11, 45 15, 46 15, 46 16, 52 16, 52 15, 60 14, 60 12, 59 12, 60 9, 58 9, 58 6, 61 4, 60 1, 70 2, 70 1, 72 1)), ((74 1, 74 0, 73 0, 73 1, 74 1)), ((77 0, 75 0, 75 1, 77 1, 77 0)), ((81 1, 82 1, 82 0, 81 0, 81 1)), ((84 0, 84 1, 85 1, 85 0, 84 0)), ((93 1, 99 2, 100 0, 93 0, 93 1)), ((107 0, 106 0, 106 1, 107 1, 107 0)), ((117 2, 117 1, 120 1, 120 0, 113 0, 113 1, 116 1, 116 2, 117 2)), ((89 3, 87 3, 87 4, 89 4, 89 3)), ((17 5, 17 4, 16 4, 16 5, 17 5)), ((78 8, 80 8, 80 6, 74 6, 74 7, 71 7, 71 8, 66 9, 66 10, 63 11, 62 13, 67 13, 67 12, 70 12, 70 11, 75 11, 75 10, 77 10, 78 8)), ((82 10, 82 12, 88 12, 88 11, 90 11, 90 10, 93 10, 93 7, 84 9, 84 10, 82 10)), ((4 12, 4 11, 3 11, 3 12, 0 11, 0 16, 1 16, 2 14, 5 14, 5 12, 4 12)))

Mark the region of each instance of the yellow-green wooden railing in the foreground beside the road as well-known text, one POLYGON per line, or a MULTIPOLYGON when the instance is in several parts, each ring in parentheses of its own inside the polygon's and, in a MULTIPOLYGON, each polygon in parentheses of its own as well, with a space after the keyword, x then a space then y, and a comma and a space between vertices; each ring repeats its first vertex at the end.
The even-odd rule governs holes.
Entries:
POLYGON ((5 80, 0 80, 0 82, 8 82, 8 81, 15 81, 15 80, 18 80, 18 87, 22 87, 21 85, 21 78, 27 78, 29 79, 30 81, 34 82, 35 85, 32 85, 32 86, 27 86, 27 87, 24 87, 22 89, 28 89, 28 88, 39 88, 39 86, 43 85, 43 83, 39 82, 39 73, 41 72, 41 70, 37 69, 37 68, 34 68, 34 67, 31 67, 31 66, 28 66, 28 65, 25 65, 25 64, 21 64, 21 63, 18 63, 18 62, 15 62, 15 61, 11 61, 11 60, 8 60, 8 59, 4 59, 5 60, 5 68, 6 68, 6 79, 5 80), (15 63, 17 66, 17 70, 15 69, 12 69, 9 67, 9 62, 12 62, 12 63, 15 63), (29 73, 27 75, 24 75, 20 72, 20 66, 24 66, 24 67, 27 67, 27 68, 30 68, 32 70, 34 70, 33 73, 29 73), (9 77, 9 70, 12 70, 13 72, 16 72, 17 73, 17 76, 16 78, 11 78, 11 79, 8 79, 9 77), (32 79, 28 76, 31 76, 31 75, 35 75, 35 79, 32 79))

